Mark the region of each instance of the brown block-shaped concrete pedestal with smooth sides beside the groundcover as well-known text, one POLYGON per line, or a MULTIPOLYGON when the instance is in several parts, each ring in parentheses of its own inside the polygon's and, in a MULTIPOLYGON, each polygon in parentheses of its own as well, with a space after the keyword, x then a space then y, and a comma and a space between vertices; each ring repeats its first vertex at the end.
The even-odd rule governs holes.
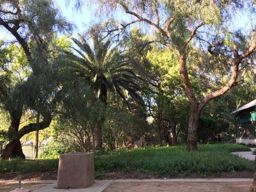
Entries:
POLYGON ((57 188, 86 188, 94 183, 94 153, 61 154, 57 188))

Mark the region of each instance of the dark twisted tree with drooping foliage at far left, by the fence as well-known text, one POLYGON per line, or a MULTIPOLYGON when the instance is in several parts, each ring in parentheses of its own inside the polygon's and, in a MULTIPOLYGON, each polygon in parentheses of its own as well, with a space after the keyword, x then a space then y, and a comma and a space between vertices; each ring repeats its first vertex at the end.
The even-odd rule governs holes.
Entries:
POLYGON ((52 57, 51 42, 57 31, 67 31, 71 25, 61 17, 51 0, 2 0, 0 27, 18 42, 24 54, 24 62, 28 63, 31 72, 23 82, 12 86, 15 87, 13 91, 10 91, 9 86, 2 89, 5 91, 1 95, 1 102, 10 113, 11 125, 8 129, 9 143, 1 157, 24 157, 20 138, 26 133, 48 127, 51 122, 49 98, 54 96, 52 91, 55 82, 50 80, 54 75, 50 75, 53 74, 51 64, 56 61, 52 57), (43 120, 39 126, 30 123, 19 129, 25 106, 42 115, 43 120))

